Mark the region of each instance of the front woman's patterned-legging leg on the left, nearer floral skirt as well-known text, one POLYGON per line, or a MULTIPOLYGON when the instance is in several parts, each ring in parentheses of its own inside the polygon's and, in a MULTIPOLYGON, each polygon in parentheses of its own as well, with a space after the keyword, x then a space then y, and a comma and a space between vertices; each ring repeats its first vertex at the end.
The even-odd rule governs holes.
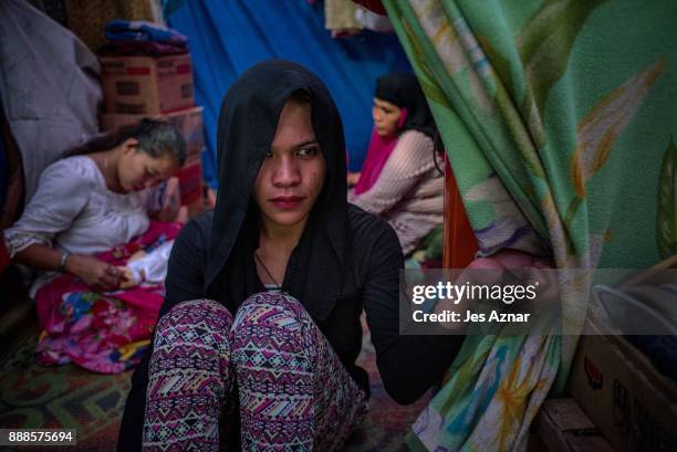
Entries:
POLYGON ((145 451, 218 451, 232 388, 232 315, 210 299, 176 305, 157 323, 146 396, 145 451))

